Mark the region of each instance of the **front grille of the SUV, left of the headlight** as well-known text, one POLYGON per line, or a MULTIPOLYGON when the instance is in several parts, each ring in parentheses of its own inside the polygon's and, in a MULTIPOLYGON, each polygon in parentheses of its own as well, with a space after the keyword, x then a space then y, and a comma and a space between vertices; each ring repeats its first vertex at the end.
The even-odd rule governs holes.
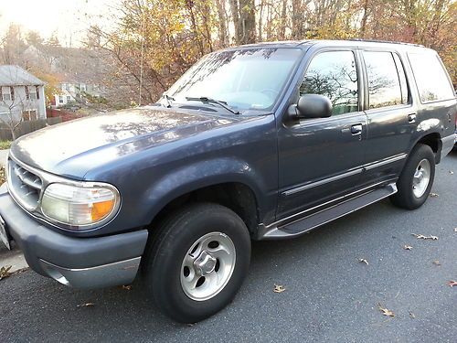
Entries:
POLYGON ((26 209, 37 209, 43 180, 14 160, 8 160, 8 186, 13 197, 26 209))

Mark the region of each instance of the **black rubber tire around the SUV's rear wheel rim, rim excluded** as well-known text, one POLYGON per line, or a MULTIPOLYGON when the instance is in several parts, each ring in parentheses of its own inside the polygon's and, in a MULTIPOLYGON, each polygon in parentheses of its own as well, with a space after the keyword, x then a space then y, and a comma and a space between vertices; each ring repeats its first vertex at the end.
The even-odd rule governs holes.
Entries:
POLYGON ((392 203, 403 209, 418 209, 427 200, 430 195, 430 189, 433 186, 435 178, 435 155, 429 145, 416 145, 401 171, 397 188, 399 191, 390 197, 392 203), (420 161, 426 159, 430 163, 430 180, 424 193, 418 198, 413 191, 413 178, 420 161))

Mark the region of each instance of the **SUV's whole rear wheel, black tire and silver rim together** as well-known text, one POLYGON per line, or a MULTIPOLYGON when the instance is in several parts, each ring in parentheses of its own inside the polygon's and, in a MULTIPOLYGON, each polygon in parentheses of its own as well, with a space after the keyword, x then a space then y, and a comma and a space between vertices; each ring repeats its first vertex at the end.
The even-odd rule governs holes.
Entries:
POLYGON ((435 177, 435 155, 429 145, 416 145, 397 181, 399 191, 392 203, 403 209, 418 209, 427 200, 435 177))

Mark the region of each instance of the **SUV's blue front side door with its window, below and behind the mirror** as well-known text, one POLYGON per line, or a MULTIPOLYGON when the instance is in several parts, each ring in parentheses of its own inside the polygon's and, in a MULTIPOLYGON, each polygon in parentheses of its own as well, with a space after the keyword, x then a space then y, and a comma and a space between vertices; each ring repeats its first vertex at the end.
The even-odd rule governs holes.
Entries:
POLYGON ((328 118, 293 123, 284 119, 279 125, 278 220, 350 192, 360 179, 364 161, 367 117, 361 111, 355 50, 330 48, 308 54, 313 57, 296 99, 321 94, 331 100, 333 110, 328 118))

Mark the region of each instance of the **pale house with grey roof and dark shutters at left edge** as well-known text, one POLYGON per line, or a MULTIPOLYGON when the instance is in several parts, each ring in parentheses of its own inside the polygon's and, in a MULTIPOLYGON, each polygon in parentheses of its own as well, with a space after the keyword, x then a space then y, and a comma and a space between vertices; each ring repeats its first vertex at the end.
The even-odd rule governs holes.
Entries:
POLYGON ((45 82, 17 66, 0 66, 0 123, 46 118, 45 82))

